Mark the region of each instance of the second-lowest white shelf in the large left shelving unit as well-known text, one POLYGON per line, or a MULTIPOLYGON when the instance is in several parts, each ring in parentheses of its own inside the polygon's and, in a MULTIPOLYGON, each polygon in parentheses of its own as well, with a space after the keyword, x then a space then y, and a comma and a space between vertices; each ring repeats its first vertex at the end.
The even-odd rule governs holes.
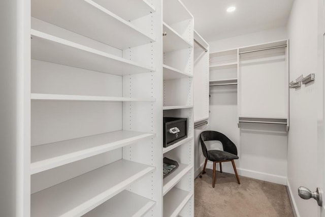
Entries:
POLYGON ((31 216, 81 216, 155 168, 119 160, 31 195, 31 216))

